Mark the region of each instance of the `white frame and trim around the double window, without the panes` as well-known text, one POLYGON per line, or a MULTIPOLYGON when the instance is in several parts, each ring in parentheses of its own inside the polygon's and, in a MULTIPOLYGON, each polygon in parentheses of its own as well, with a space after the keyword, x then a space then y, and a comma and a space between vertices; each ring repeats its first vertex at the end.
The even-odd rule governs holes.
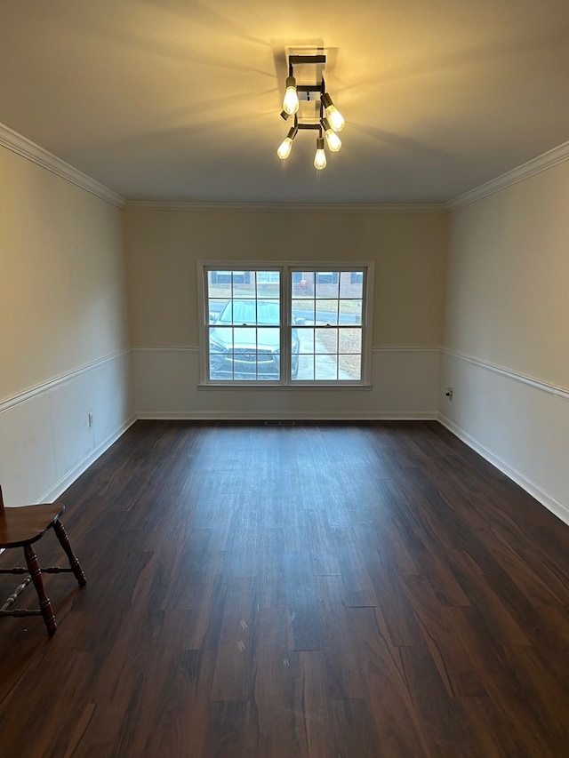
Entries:
POLYGON ((323 387, 371 387, 372 385, 372 325, 373 325, 373 291, 374 291, 373 261, 267 261, 267 260, 198 260, 197 261, 197 304, 199 331, 199 381, 200 387, 227 389, 275 390, 310 389, 323 387), (280 365, 281 378, 272 381, 254 379, 209 379, 209 308, 206 297, 207 273, 209 271, 280 271, 280 365), (364 287, 362 291, 362 373, 361 379, 291 379, 291 334, 292 334, 292 301, 293 273, 317 271, 363 271, 364 287))

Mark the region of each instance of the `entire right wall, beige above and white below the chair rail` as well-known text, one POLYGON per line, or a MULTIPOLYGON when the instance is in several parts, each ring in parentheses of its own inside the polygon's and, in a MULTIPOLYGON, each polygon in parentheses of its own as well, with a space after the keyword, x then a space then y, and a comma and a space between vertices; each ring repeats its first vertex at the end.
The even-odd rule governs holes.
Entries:
POLYGON ((569 162, 451 214, 441 404, 569 523, 569 162))

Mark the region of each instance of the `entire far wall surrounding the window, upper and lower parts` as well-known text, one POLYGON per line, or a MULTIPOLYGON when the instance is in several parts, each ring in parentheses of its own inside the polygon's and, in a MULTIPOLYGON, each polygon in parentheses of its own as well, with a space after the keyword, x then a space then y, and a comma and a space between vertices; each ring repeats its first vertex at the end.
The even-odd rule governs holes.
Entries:
POLYGON ((434 418, 446 235, 445 213, 125 211, 137 414, 434 418), (220 259, 374 261, 372 387, 200 387, 196 261, 220 259))

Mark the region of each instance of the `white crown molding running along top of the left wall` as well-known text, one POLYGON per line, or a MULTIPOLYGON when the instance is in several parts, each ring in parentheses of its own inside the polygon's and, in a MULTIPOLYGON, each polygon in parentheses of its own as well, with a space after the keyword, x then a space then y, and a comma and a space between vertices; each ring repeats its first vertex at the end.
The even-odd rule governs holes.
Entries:
POLYGON ((0 146, 12 150, 12 153, 17 153, 19 156, 27 158, 33 164, 42 166, 47 171, 70 181, 76 187, 80 187, 92 195, 100 197, 101 200, 115 205, 116 208, 124 208, 124 197, 117 195, 112 189, 108 189, 100 184, 100 182, 87 176, 87 174, 80 172, 75 166, 62 161, 61 158, 36 145, 35 142, 28 140, 27 137, 14 132, 10 127, 5 126, 5 124, 0 124, 0 146))

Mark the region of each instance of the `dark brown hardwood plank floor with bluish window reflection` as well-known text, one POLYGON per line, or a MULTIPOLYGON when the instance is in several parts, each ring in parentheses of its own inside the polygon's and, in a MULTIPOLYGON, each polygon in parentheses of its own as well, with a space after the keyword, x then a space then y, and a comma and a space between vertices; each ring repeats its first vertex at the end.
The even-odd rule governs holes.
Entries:
POLYGON ((139 421, 61 499, 0 755, 569 755, 569 527, 436 422, 139 421))

